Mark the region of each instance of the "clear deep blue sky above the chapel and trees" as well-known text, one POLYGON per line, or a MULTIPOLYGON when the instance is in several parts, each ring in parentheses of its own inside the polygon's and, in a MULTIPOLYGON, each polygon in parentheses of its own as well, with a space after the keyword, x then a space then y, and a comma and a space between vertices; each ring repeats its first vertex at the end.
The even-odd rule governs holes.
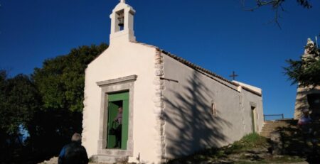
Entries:
MULTIPOLYGON (((254 0, 246 0, 250 4, 254 0)), ((43 60, 80 45, 109 43, 118 0, 0 0, 0 69, 31 74, 43 60)), ((139 42, 156 45, 230 80, 262 88, 265 114, 292 117, 296 85, 283 74, 307 38, 320 33, 320 1, 312 9, 286 1, 274 23, 269 6, 250 12, 240 0, 127 0, 137 12, 139 42)))

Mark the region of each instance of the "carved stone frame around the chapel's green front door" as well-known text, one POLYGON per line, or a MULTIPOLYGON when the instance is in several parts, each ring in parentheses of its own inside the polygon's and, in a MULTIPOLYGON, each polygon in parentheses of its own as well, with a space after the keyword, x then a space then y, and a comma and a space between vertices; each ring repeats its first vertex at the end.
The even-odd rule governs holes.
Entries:
POLYGON ((137 75, 119 77, 112 80, 96 82, 101 88, 101 106, 100 106, 100 124, 99 124, 99 139, 97 153, 100 155, 121 155, 133 156, 133 102, 134 102, 134 82, 137 80, 137 75), (128 141, 127 150, 107 149, 107 118, 108 118, 108 95, 117 92, 129 92, 129 125, 128 125, 128 141))

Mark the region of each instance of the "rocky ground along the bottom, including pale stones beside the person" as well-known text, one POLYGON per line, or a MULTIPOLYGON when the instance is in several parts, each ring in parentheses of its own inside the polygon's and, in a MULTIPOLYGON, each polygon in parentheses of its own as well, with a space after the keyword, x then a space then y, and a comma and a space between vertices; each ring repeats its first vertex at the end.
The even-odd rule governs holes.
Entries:
MULTIPOLYGON (((297 142, 297 141, 296 141, 297 142)), ((292 145, 289 145, 292 146, 292 145)), ((296 146, 297 145, 296 143, 296 146)), ((187 157, 169 161, 169 164, 193 164, 193 163, 320 163, 319 153, 312 153, 299 148, 299 153, 283 153, 282 155, 272 155, 272 144, 267 138, 257 134, 250 134, 240 141, 225 146, 223 148, 210 148, 199 151, 187 157), (304 151, 304 152, 303 152, 304 151), (308 162, 307 162, 308 161, 308 162)), ((292 147, 288 147, 293 150, 292 147)), ((41 164, 56 164, 58 158, 43 161, 41 164)), ((90 163, 96 164, 96 163, 90 163)))

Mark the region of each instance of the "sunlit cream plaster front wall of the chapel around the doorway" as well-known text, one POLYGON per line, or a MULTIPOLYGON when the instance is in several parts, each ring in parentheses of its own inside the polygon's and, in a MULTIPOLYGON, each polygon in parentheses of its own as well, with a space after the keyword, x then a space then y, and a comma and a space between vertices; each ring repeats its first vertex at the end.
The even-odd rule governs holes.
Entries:
MULTIPOLYGON (((96 82, 137 75, 134 82, 133 157, 147 163, 159 160, 156 145, 156 115, 154 115, 154 55, 155 48, 137 43, 116 41, 88 65, 85 72, 85 109, 83 111, 82 144, 88 156, 97 155, 100 125, 101 89, 96 82)), ((159 138, 159 137, 158 137, 159 138)))

